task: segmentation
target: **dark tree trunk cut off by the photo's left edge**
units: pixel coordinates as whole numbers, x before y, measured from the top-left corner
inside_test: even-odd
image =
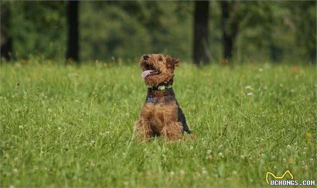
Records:
[[[1,3],[0,54],[2,59],[10,60],[12,53],[12,38],[9,32],[11,28],[11,15],[9,5],[5,3]]]

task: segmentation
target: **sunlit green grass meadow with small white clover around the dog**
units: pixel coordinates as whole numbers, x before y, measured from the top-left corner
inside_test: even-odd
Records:
[[[314,65],[182,64],[174,90],[197,140],[168,145],[131,141],[146,95],[137,64],[0,69],[2,187],[264,187],[267,171],[286,170],[316,180]]]

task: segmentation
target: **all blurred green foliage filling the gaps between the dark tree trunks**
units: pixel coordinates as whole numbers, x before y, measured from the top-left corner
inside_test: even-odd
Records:
[[[64,58],[65,2],[7,2],[12,11],[14,57]],[[209,55],[222,57],[220,2],[210,3]],[[314,61],[315,1],[255,1],[232,4],[227,28],[239,22],[233,58],[246,60]],[[190,61],[193,46],[193,3],[122,1],[80,3],[80,56],[83,60],[143,53],[172,54]],[[5,25],[2,25],[5,30]]]

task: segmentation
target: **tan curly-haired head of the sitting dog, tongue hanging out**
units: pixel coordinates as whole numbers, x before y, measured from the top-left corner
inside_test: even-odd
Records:
[[[142,69],[142,78],[148,86],[157,86],[168,83],[174,77],[174,69],[179,66],[178,58],[162,54],[145,54],[139,62]]]

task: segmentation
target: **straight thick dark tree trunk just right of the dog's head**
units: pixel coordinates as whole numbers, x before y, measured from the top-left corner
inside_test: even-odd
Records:
[[[194,62],[207,63],[208,58],[209,1],[195,1],[194,13]]]

